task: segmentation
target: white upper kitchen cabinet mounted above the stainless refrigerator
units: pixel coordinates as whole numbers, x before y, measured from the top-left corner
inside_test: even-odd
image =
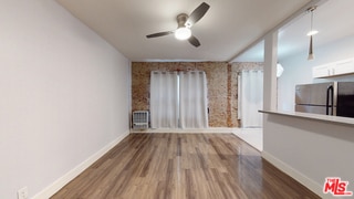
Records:
[[[324,78],[352,73],[354,73],[354,57],[315,66],[312,69],[312,76],[314,78]]]

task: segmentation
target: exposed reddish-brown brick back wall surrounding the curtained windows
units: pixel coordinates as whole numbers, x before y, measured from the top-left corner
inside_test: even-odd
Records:
[[[208,82],[209,126],[239,127],[237,119],[237,72],[262,63],[227,62],[133,62],[132,109],[149,109],[152,71],[205,71]]]

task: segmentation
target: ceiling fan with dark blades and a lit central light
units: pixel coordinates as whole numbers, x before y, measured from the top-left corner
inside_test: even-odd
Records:
[[[178,40],[188,40],[190,44],[194,46],[199,46],[199,40],[191,34],[190,28],[197,23],[208,11],[210,8],[209,4],[202,2],[199,7],[197,7],[189,15],[186,13],[180,13],[177,15],[177,23],[178,27],[174,31],[165,31],[165,32],[157,32],[154,34],[148,34],[146,38],[158,38],[168,34],[175,34]]]

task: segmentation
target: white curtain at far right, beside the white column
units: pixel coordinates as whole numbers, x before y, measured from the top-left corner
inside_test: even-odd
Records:
[[[239,118],[242,127],[262,127],[263,71],[242,71],[238,81]]]

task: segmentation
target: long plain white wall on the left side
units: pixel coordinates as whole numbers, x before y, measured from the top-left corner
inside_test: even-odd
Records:
[[[128,133],[129,61],[54,0],[0,1],[0,198]]]

